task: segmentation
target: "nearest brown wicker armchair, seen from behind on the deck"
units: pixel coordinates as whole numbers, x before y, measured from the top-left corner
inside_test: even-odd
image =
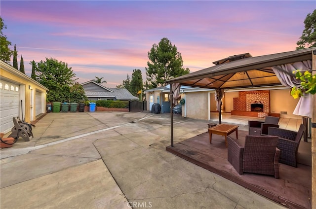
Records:
[[[239,174],[266,174],[279,178],[277,137],[247,135],[244,145],[241,145],[241,140],[229,136],[227,141],[227,159]]]

